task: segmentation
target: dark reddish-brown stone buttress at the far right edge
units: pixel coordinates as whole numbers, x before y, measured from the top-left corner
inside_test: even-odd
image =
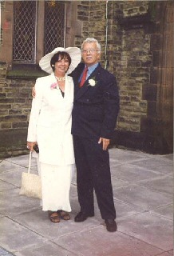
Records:
[[[142,97],[148,102],[141,130],[159,154],[173,150],[174,2],[156,2],[156,26],[150,35],[152,65]]]

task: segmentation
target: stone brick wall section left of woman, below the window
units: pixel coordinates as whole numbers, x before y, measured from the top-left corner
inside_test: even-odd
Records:
[[[6,79],[0,63],[0,158],[27,153],[26,133],[34,81]]]

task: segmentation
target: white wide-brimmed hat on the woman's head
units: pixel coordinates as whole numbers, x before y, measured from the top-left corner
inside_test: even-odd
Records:
[[[68,48],[62,48],[57,47],[55,48],[51,53],[46,54],[39,62],[39,66],[44,70],[45,72],[51,74],[53,73],[53,69],[50,65],[51,58],[54,54],[57,54],[58,51],[65,51],[69,54],[71,58],[71,65],[69,66],[69,69],[67,70],[66,74],[70,74],[78,65],[78,63],[81,62],[81,50],[77,47],[68,47]]]

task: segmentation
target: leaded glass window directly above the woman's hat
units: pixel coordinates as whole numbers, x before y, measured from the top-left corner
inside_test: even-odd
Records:
[[[45,1],[45,54],[64,47],[65,4]]]

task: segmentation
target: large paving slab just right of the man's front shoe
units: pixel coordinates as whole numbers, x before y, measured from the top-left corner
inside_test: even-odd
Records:
[[[136,214],[120,221],[120,230],[162,250],[173,248],[172,221],[150,213]]]

